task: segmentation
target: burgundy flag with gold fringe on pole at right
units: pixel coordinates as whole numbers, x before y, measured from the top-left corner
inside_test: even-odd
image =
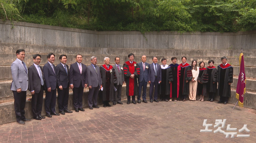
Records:
[[[243,107],[243,97],[246,92],[245,85],[246,85],[246,77],[244,72],[244,59],[243,59],[243,53],[239,56],[239,65],[240,65],[240,73],[238,77],[237,82],[237,93],[236,98],[238,99],[238,105],[239,107]]]

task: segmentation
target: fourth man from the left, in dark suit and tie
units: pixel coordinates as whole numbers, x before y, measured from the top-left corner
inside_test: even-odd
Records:
[[[62,54],[59,56],[59,65],[56,66],[56,78],[58,89],[58,105],[59,113],[65,115],[65,113],[73,113],[67,109],[69,102],[69,66],[67,63],[67,56]]]

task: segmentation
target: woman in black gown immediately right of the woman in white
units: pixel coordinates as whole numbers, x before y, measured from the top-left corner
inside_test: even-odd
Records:
[[[200,99],[198,101],[204,101],[204,96],[206,96],[207,82],[208,82],[208,72],[206,68],[204,68],[204,62],[199,63],[199,75],[198,75],[198,85],[197,92],[200,95]]]

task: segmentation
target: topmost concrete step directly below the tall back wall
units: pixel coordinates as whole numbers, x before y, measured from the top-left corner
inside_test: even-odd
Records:
[[[129,49],[129,48],[77,48],[77,47],[58,47],[58,46],[42,46],[31,44],[13,44],[0,43],[1,54],[15,54],[17,49],[25,49],[27,54],[69,54],[69,55],[121,55],[127,56],[134,53],[135,56],[204,56],[204,57],[239,57],[241,50],[184,50],[184,49]],[[256,50],[243,50],[244,57],[256,57]]]

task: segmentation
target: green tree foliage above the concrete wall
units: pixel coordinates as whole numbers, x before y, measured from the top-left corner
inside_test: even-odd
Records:
[[[98,31],[256,30],[255,0],[0,0],[0,19]]]

